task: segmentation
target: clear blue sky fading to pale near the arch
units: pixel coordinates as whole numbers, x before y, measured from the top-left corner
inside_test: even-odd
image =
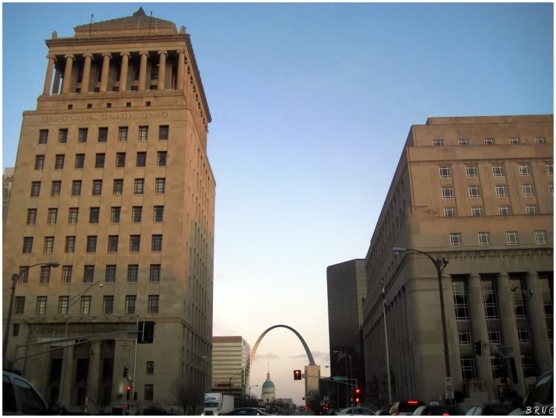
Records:
[[[44,40],[138,6],[3,4],[4,167],[42,92]],[[285,323],[323,371],[326,266],[365,257],[411,124],[553,113],[550,3],[142,6],[191,33],[212,113],[214,335],[253,346]],[[296,338],[274,330],[257,353],[251,385],[270,362],[278,396],[301,403]]]

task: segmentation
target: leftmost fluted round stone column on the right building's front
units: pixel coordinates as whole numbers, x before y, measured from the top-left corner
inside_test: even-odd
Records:
[[[477,273],[468,275],[467,297],[471,319],[471,344],[475,344],[476,341],[481,341],[482,344],[482,355],[475,355],[475,373],[477,373],[477,378],[484,381],[484,389],[489,394],[489,401],[494,401],[496,398],[491,371],[491,346],[484,316],[481,275]],[[475,349],[475,346],[472,347]]]

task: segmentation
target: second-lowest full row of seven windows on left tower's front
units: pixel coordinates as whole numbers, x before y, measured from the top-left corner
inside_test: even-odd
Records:
[[[62,283],[71,283],[73,276],[73,266],[62,266]],[[40,278],[39,282],[46,284],[50,282],[51,267],[41,266],[40,267]],[[139,278],[139,265],[138,264],[128,264],[127,266],[127,282],[136,283]],[[149,282],[159,283],[161,278],[161,265],[160,264],[150,264],[149,267]],[[93,283],[95,281],[95,266],[84,266],[83,269],[83,282]],[[19,266],[19,283],[26,284],[29,282],[29,266]],[[104,273],[105,283],[115,283],[116,282],[116,264],[106,265]]]

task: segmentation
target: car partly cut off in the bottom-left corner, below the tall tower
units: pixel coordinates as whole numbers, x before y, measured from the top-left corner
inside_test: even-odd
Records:
[[[57,403],[48,405],[37,389],[11,371],[2,372],[2,415],[59,415]]]

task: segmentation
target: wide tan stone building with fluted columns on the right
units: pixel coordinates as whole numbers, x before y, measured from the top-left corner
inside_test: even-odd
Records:
[[[443,299],[455,391],[525,397],[535,376],[553,368],[553,167],[553,115],[429,118],[411,127],[365,258],[372,399],[388,399],[382,278],[392,398],[445,396],[436,267],[394,247],[449,263]]]

